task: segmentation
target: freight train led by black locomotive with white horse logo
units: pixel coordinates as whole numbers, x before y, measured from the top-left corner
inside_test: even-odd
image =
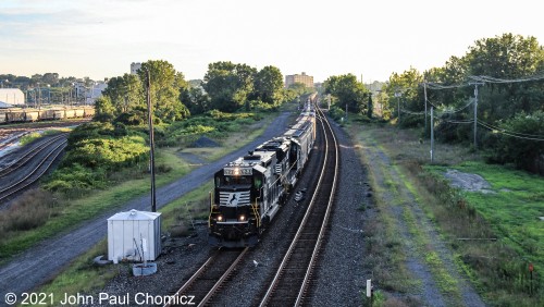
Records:
[[[254,246],[286,199],[316,140],[316,111],[308,101],[295,125],[214,174],[208,241]]]

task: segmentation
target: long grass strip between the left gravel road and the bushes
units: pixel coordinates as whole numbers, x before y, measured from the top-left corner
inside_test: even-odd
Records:
[[[189,163],[178,157],[180,151],[203,155],[201,157],[203,160],[215,160],[226,152],[250,143],[262,133],[267,126],[265,123],[270,123],[274,116],[275,114],[268,113],[265,119],[257,123],[245,121],[243,124],[236,124],[226,138],[217,139],[222,145],[218,148],[182,149],[172,146],[159,148],[156,164],[158,169],[163,168],[165,171],[159,171],[157,174],[157,185],[171,183],[190,171]],[[213,154],[207,155],[210,152]],[[27,197],[23,197],[20,200],[21,205],[12,207],[14,209],[0,212],[0,220],[3,221],[0,228],[0,261],[10,259],[44,238],[66,231],[85,220],[119,208],[129,199],[149,193],[149,179],[146,169],[147,162],[143,162],[131,169],[119,171],[111,177],[114,184],[110,184],[104,189],[86,192],[84,195],[61,199],[55,195],[51,197],[34,192]],[[44,199],[44,197],[48,199]],[[38,209],[34,206],[36,202],[41,202],[44,206]],[[46,222],[34,225],[32,221],[28,222],[33,217],[46,219]],[[22,220],[25,221],[21,223]],[[15,226],[11,228],[10,224]],[[17,230],[16,225],[18,224],[24,224],[25,229]]]

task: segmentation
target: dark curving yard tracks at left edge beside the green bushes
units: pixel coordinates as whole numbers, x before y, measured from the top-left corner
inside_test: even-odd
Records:
[[[0,201],[28,187],[41,177],[66,146],[67,133],[35,142],[21,154],[2,157],[0,165]],[[11,157],[14,156],[14,157]]]

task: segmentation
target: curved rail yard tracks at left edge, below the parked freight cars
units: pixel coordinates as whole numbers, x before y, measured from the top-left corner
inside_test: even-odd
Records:
[[[52,137],[50,140],[33,148],[11,165],[0,170],[0,180],[4,183],[4,186],[0,188],[0,201],[26,188],[44,175],[51,168],[57,157],[64,150],[66,146],[65,136],[66,134],[62,134]],[[13,173],[23,167],[25,167],[24,174],[17,176]]]

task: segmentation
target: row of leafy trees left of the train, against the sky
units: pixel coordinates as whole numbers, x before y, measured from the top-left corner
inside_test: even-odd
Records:
[[[159,122],[172,123],[211,110],[270,110],[301,94],[299,85],[285,89],[282,72],[272,65],[257,70],[230,61],[214,62],[208,65],[203,81],[187,82],[168,61],[148,61],[141,64],[137,75],[110,78],[103,97],[96,102],[96,119],[144,123],[148,71],[153,113]]]

